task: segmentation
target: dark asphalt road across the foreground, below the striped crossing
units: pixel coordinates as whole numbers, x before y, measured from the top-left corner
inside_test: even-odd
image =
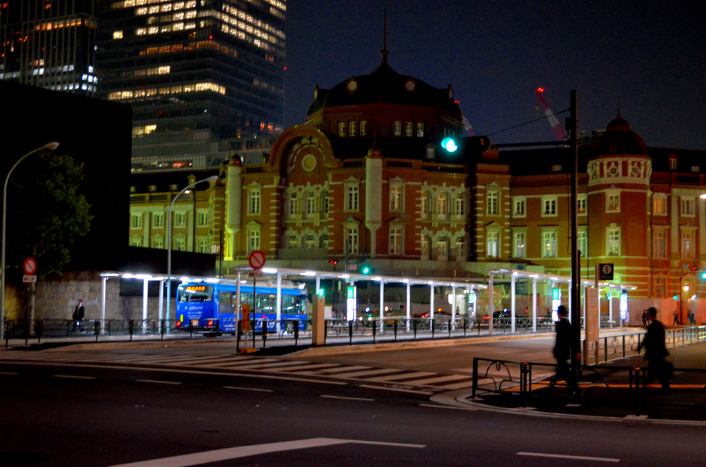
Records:
[[[137,362],[134,368],[1,362],[0,465],[695,466],[706,461],[705,427],[527,417],[266,370],[229,375],[138,367]]]

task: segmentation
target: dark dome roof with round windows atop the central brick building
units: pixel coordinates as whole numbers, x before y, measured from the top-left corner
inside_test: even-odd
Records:
[[[461,118],[451,85],[437,89],[412,75],[400,75],[383,59],[369,75],[353,76],[330,90],[316,88],[307,116],[321,109],[366,104],[395,104],[443,109]]]

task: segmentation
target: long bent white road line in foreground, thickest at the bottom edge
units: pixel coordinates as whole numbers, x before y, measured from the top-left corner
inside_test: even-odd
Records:
[[[359,439],[335,439],[335,438],[311,438],[299,439],[297,441],[285,441],[267,444],[253,444],[251,446],[229,447],[225,449],[215,449],[215,451],[196,452],[184,454],[184,456],[165,457],[163,459],[152,459],[151,461],[139,461],[124,463],[112,467],[189,467],[201,463],[214,463],[227,461],[228,459],[239,459],[247,456],[257,456],[258,454],[270,454],[273,452],[290,451],[292,449],[307,449],[322,446],[333,446],[334,444],[357,443],[376,444],[382,446],[414,447],[424,448],[426,444],[404,444],[388,443],[376,441],[363,441]]]

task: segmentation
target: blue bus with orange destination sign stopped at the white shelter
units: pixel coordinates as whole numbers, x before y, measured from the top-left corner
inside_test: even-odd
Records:
[[[280,319],[287,320],[289,327],[299,320],[299,330],[306,329],[309,322],[309,298],[304,288],[283,281],[280,287],[282,308]],[[263,320],[267,319],[267,332],[277,330],[277,287],[265,283],[256,286],[253,305],[253,286],[240,286],[240,303],[250,305],[250,317],[254,320],[255,332],[262,332]],[[177,288],[177,328],[189,328],[208,332],[236,332],[236,284],[187,282]],[[282,326],[280,329],[286,330]]]

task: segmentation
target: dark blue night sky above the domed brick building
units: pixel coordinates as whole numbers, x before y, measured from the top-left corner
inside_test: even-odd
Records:
[[[580,131],[605,129],[619,102],[648,146],[706,150],[702,1],[287,0],[285,128],[317,83],[378,67],[383,8],[393,70],[451,83],[495,143],[556,140],[546,120],[503,131],[544,116],[541,86],[562,124],[577,90]]]

